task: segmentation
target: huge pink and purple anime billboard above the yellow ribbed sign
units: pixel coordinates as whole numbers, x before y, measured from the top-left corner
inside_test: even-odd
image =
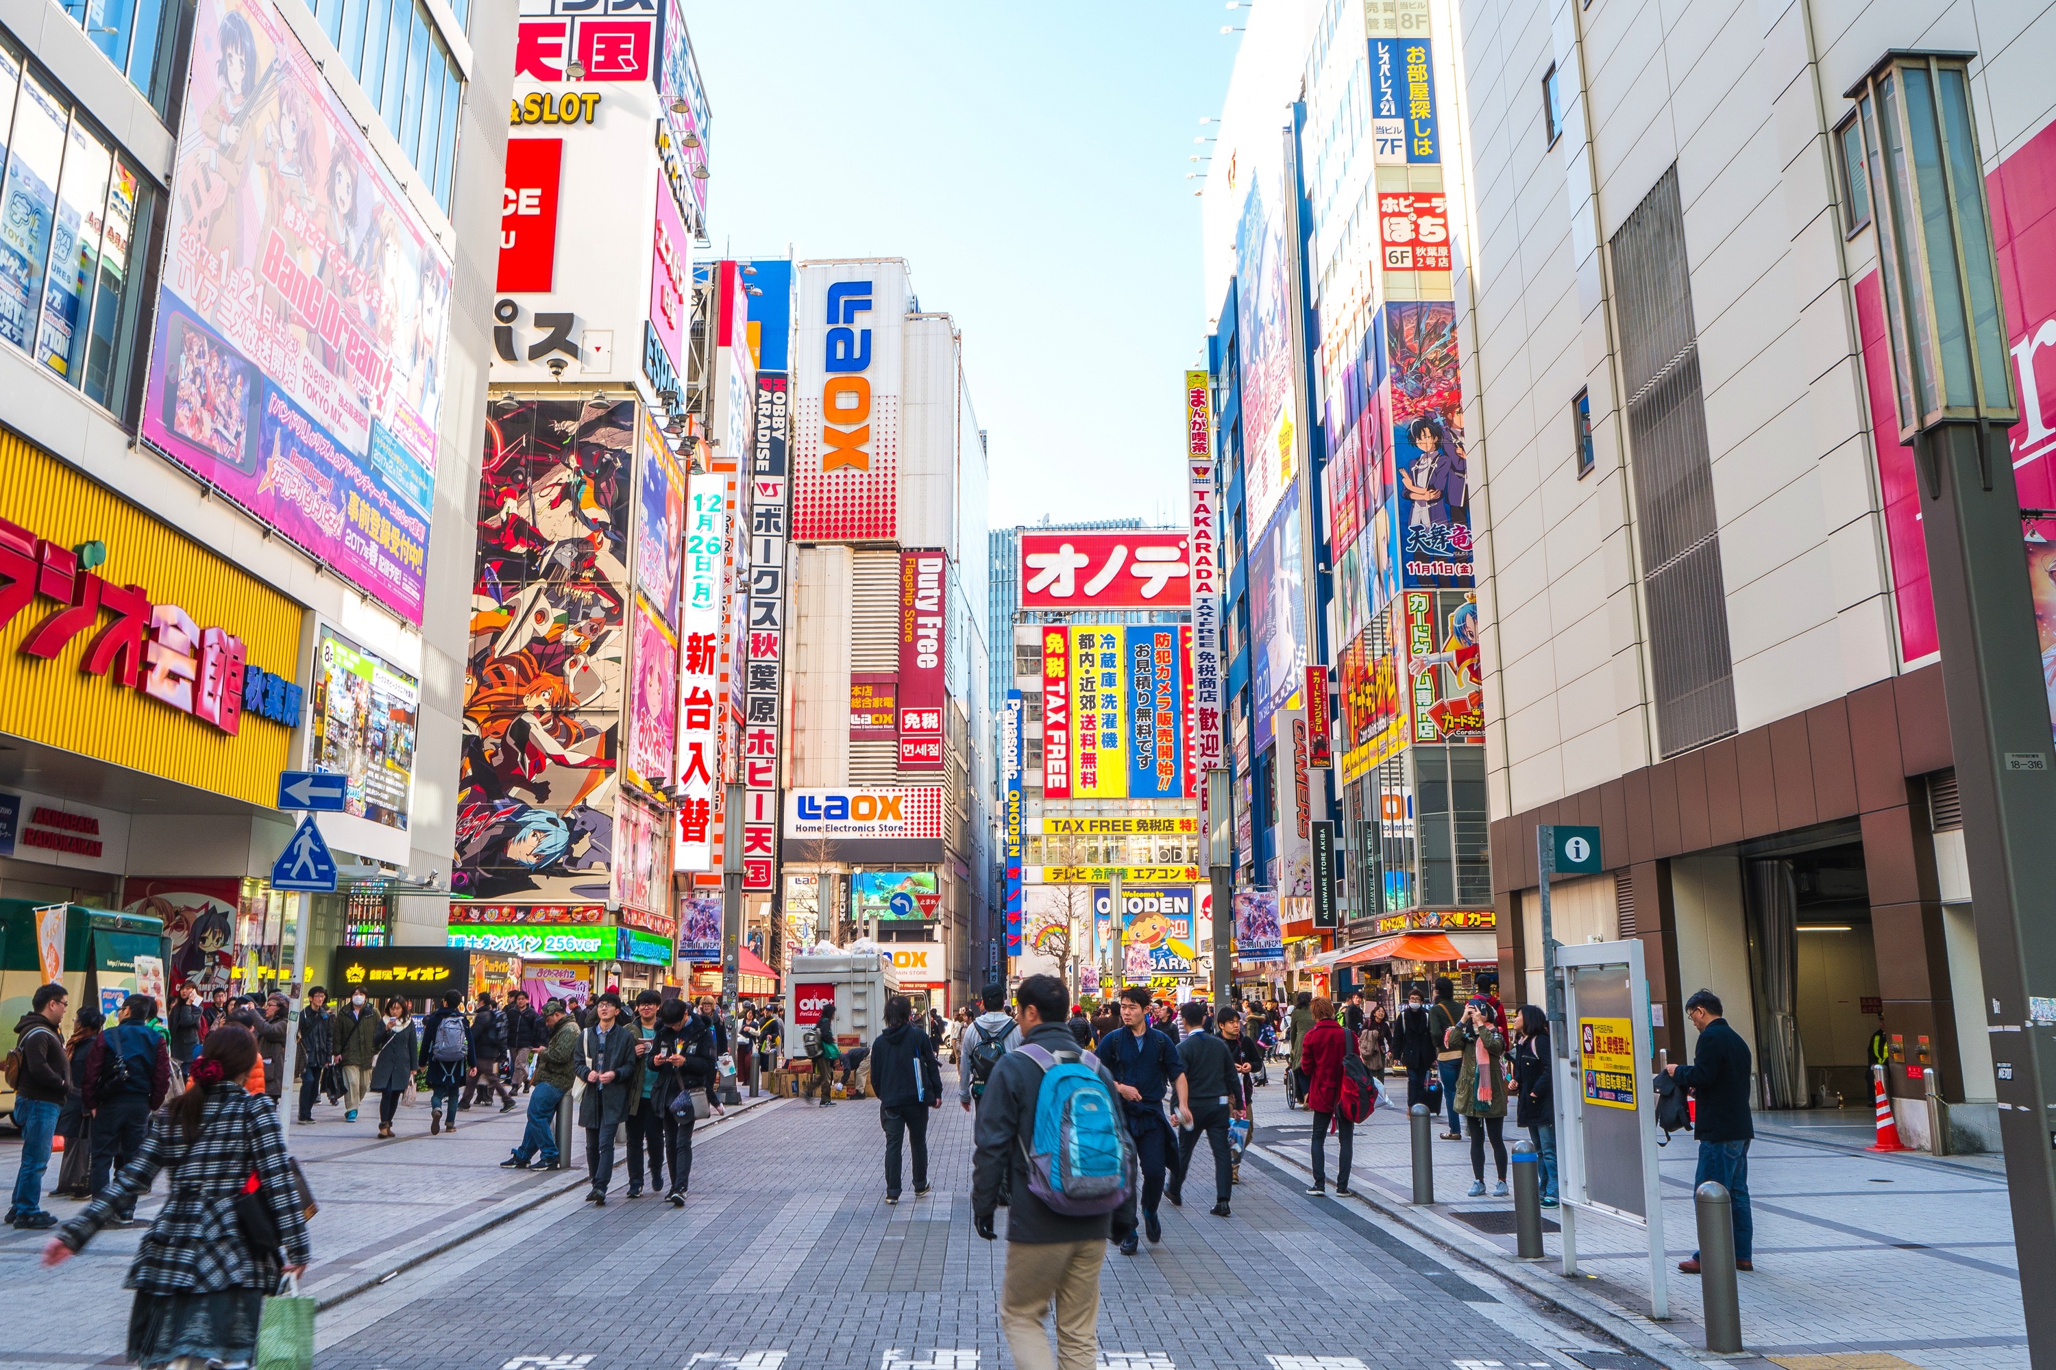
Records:
[[[142,433],[421,622],[450,261],[271,0],[199,0]]]

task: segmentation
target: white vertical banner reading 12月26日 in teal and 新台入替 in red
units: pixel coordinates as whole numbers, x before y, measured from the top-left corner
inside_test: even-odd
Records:
[[[678,832],[672,869],[713,869],[713,807],[722,764],[720,639],[722,559],[728,542],[728,477],[697,474],[685,497],[685,561],[678,589]]]

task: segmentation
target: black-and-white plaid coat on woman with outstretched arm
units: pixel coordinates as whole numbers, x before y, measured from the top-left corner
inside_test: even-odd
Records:
[[[278,1222],[286,1263],[304,1265],[313,1257],[306,1216],[288,1197],[278,1105],[226,1080],[208,1087],[197,1138],[187,1142],[183,1128],[158,1117],[121,1175],[86,1212],[58,1228],[58,1241],[80,1251],[119,1212],[136,1208],[158,1171],[167,1173],[169,1197],[150,1222],[123,1288],[138,1294],[278,1290],[278,1255],[253,1251],[236,1222],[236,1195],[253,1171]]]

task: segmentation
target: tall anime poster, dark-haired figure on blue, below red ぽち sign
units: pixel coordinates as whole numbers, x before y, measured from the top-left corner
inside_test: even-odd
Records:
[[[1470,589],[1470,468],[1456,304],[1386,306],[1386,382],[1402,583]]]

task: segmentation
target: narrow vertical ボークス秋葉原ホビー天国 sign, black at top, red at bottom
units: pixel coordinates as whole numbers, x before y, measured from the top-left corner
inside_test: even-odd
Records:
[[[785,376],[757,374],[750,452],[750,610],[742,682],[742,889],[777,889],[777,789],[785,698]]]

